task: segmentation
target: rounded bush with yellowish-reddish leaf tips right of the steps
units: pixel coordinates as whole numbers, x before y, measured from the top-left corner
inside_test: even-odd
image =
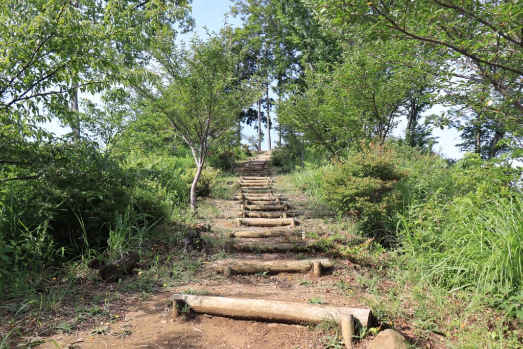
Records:
[[[339,213],[380,232],[400,206],[398,184],[405,176],[390,148],[370,144],[344,163],[335,164],[333,171],[324,172],[323,198]]]

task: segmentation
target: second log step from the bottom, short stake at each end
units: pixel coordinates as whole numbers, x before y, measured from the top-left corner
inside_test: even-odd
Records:
[[[224,267],[230,267],[231,271],[235,274],[256,274],[260,272],[266,272],[268,274],[308,273],[314,268],[314,264],[316,263],[319,263],[323,269],[332,266],[332,263],[328,260],[328,258],[321,258],[319,260],[310,261],[234,261],[220,263],[214,268],[217,272],[223,273]]]

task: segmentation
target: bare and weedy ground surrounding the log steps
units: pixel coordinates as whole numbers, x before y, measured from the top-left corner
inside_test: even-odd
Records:
[[[332,258],[334,267],[327,275],[260,273],[223,279],[206,274],[206,267],[215,262],[266,257],[223,252],[224,242],[236,229],[238,203],[230,200],[237,176],[222,176],[212,197],[200,201],[200,220],[212,228],[202,236],[204,252],[180,253],[158,243],[147,252],[143,271],[115,284],[96,282],[79,265],[70,267],[74,286],[67,278],[53,279],[50,271],[51,291],[41,295],[40,303],[22,297],[3,305],[2,332],[12,332],[13,347],[33,343],[43,348],[337,348],[342,343],[339,328],[330,322],[288,325],[204,315],[175,320],[170,316],[170,296],[177,292],[369,307],[381,321],[380,328],[365,331],[357,348],[366,348],[384,328],[400,331],[412,347],[461,346],[495,321],[495,314],[470,308],[458,294],[413,284],[393,252],[355,247],[350,258],[339,257],[331,246],[365,241],[353,233],[353,224],[294,187],[289,175],[272,171],[276,192],[288,196],[298,211],[297,230],[305,232],[307,241],[328,247],[328,254],[316,255]],[[277,257],[290,256],[270,256]]]

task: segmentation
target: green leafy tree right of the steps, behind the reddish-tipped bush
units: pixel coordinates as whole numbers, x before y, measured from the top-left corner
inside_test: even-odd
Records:
[[[332,72],[310,73],[308,89],[280,103],[280,123],[303,132],[305,140],[331,155],[361,139],[383,143],[412,99],[426,98],[419,91],[425,91],[427,79],[405,68],[416,59],[401,51],[413,49],[396,42],[354,46]]]

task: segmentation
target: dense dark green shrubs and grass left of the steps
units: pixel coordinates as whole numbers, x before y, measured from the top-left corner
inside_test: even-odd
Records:
[[[53,154],[49,170],[0,186],[1,299],[45,288],[49,268],[95,257],[113,261],[143,249],[165,230],[183,231],[179,224],[195,221],[187,211],[196,171],[190,151],[170,144],[155,144],[150,151],[132,145],[99,151],[87,142],[40,144],[41,153]],[[209,164],[226,170],[229,164],[220,156],[210,156]],[[238,149],[236,159],[241,156],[245,152]],[[198,196],[211,194],[220,173],[205,168]],[[175,235],[169,243],[179,245],[185,237]]]

